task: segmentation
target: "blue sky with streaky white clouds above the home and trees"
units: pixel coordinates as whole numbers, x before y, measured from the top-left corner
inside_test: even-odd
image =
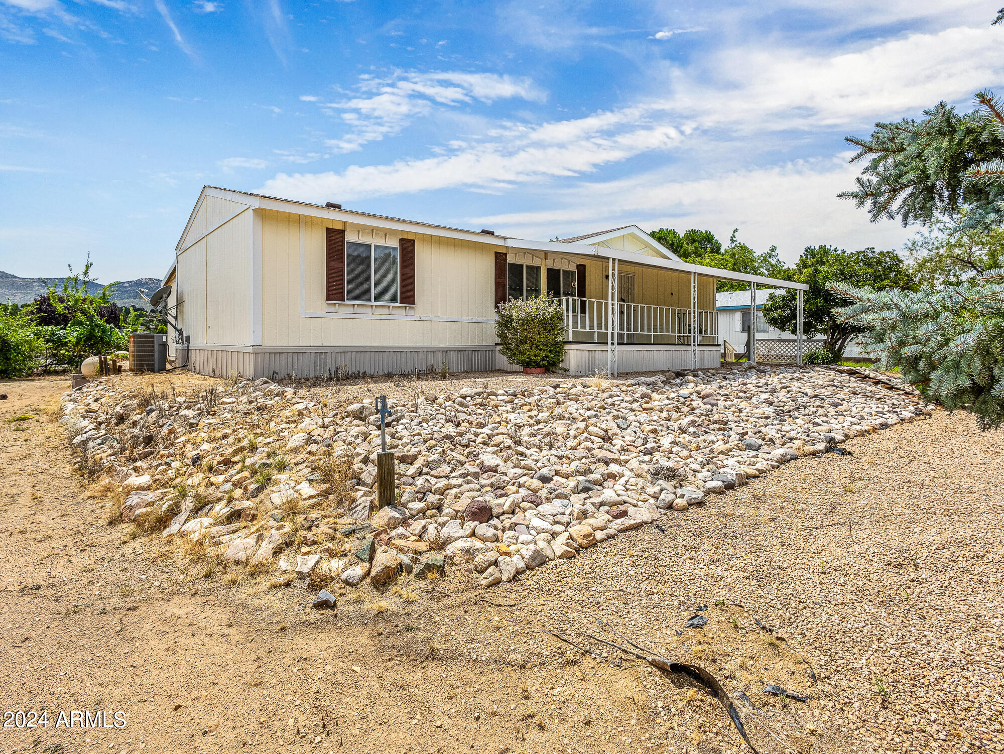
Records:
[[[548,239],[900,248],[843,137],[1004,81],[1000,0],[0,0],[0,269],[161,275],[204,184]]]

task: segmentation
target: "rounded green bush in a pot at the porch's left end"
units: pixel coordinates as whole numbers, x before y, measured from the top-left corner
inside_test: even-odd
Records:
[[[553,370],[564,360],[564,312],[548,296],[500,304],[495,335],[510,363]]]

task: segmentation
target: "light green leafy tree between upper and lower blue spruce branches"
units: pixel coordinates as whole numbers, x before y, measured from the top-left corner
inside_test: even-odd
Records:
[[[941,220],[908,241],[906,251],[918,286],[959,285],[1004,267],[1004,229],[956,228]]]

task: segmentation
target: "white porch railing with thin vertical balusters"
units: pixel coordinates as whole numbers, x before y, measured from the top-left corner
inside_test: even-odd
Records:
[[[574,296],[563,296],[554,301],[564,311],[566,340],[606,342],[608,301]],[[689,308],[624,302],[615,305],[618,342],[691,344],[693,312]],[[717,312],[698,309],[697,334],[698,344],[719,344]]]

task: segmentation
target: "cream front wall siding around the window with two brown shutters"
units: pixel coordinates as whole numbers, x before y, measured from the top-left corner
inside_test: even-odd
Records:
[[[301,316],[300,217],[272,210],[262,212],[263,345],[450,346],[495,342],[491,323],[418,318],[494,317],[494,247],[426,234],[414,236],[413,315],[395,319]],[[328,313],[324,301],[324,228],[342,228],[343,224],[305,217],[302,225],[303,308],[307,314]]]

